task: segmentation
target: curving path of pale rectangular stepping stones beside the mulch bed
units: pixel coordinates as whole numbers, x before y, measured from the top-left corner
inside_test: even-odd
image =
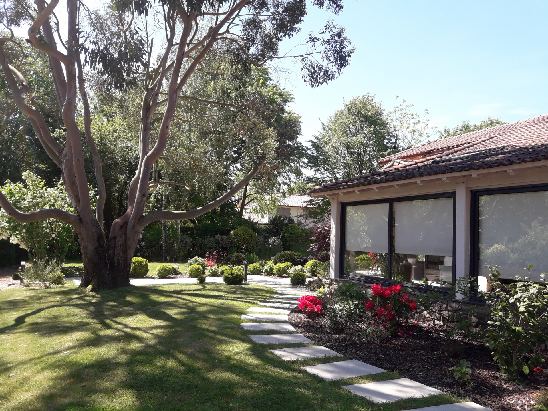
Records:
[[[271,279],[260,278],[254,283],[274,288],[278,294],[266,301],[259,302],[261,307],[250,307],[247,311],[252,312],[276,312],[289,314],[290,310],[296,307],[297,300],[302,295],[309,294],[302,287],[290,286],[282,281],[273,281]],[[273,307],[273,308],[269,308]],[[284,310],[287,309],[287,310]],[[273,311],[274,310],[274,311]],[[279,331],[282,334],[257,334],[249,335],[249,338],[256,344],[310,344],[313,341],[301,334],[288,334],[295,331],[295,328],[289,324],[287,315],[274,314],[242,314],[242,319],[252,321],[265,321],[264,323],[242,323],[244,330],[256,331]],[[322,346],[305,346],[296,348],[284,348],[279,350],[270,350],[275,355],[285,361],[299,361],[310,358],[343,357],[338,352],[329,350]],[[315,374],[326,381],[336,381],[340,379],[352,378],[362,375],[378,374],[385,372],[384,369],[374,367],[356,359],[347,361],[335,361],[319,364],[317,366],[302,367],[307,373]],[[365,397],[374,403],[385,403],[398,401],[404,398],[428,397],[431,395],[443,394],[443,391],[429,387],[424,384],[408,378],[398,378],[395,380],[378,381],[369,384],[345,385],[343,388],[352,393]],[[491,411],[473,402],[461,402],[447,404],[444,406],[425,407],[408,411]]]

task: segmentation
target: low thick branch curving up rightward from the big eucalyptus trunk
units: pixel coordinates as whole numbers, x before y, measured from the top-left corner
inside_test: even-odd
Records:
[[[210,210],[213,210],[214,208],[219,207],[222,203],[229,200],[231,197],[233,197],[238,191],[242,189],[245,185],[248,184],[248,182],[257,174],[262,167],[262,164],[265,162],[265,157],[262,157],[259,161],[259,164],[257,164],[247,175],[246,177],[238,182],[232,189],[227,191],[224,195],[216,199],[215,201],[212,201],[208,204],[206,204],[203,207],[196,208],[194,210],[190,211],[169,211],[169,210],[163,210],[163,211],[152,211],[149,214],[143,216],[141,220],[138,223],[138,230],[142,231],[147,225],[149,225],[151,222],[154,221],[162,221],[162,220],[189,220],[191,218],[196,218],[202,214],[207,213]]]

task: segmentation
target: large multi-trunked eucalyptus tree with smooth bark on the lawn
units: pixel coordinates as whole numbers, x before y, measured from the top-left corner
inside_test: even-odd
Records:
[[[90,10],[83,0],[67,0],[67,31],[63,37],[55,15],[58,3],[59,0],[36,0],[33,8],[28,0],[11,0],[5,4],[2,16],[7,30],[30,25],[27,42],[48,55],[64,139],[53,138],[42,113],[33,104],[24,75],[16,68],[16,61],[7,57],[8,48],[18,47],[13,31],[11,36],[0,39],[0,66],[16,106],[60,168],[75,212],[21,212],[2,193],[0,206],[20,222],[56,218],[74,226],[84,262],[81,287],[127,286],[134,249],[147,224],[190,219],[220,206],[242,189],[264,163],[265,153],[258,150],[250,158],[249,172],[224,195],[202,207],[146,211],[151,170],[168,144],[180,104],[211,104],[245,112],[242,107],[230,107],[223,101],[203,101],[186,95],[186,83],[196,70],[209,64],[207,56],[216,44],[224,45],[226,56],[243,67],[273,64],[285,57],[279,53],[280,42],[298,35],[307,5],[305,0],[113,0],[105,2],[106,9],[96,11]],[[341,0],[313,0],[312,4],[335,14],[343,9]],[[163,35],[160,45],[158,33]],[[333,22],[327,22],[317,35],[310,33],[303,44],[306,49],[288,57],[301,64],[301,76],[312,87],[338,76],[353,53],[344,27]],[[129,186],[127,210],[113,221],[109,238],[105,237],[103,226],[106,190],[90,126],[84,64],[98,70],[113,90],[141,88],[140,110],[135,114],[139,123],[139,163]],[[83,129],[78,127],[79,114],[83,116]],[[153,121],[156,116],[157,122]],[[89,197],[84,145],[93,155],[98,185],[95,210]]]

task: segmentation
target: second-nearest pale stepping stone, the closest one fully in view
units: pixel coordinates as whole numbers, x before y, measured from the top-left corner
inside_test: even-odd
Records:
[[[369,384],[346,385],[343,388],[346,388],[361,397],[366,397],[375,404],[393,402],[405,398],[429,397],[431,395],[444,394],[443,391],[417,383],[408,378],[378,381]]]

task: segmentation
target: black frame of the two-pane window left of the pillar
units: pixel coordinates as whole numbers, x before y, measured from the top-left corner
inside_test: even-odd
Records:
[[[401,201],[415,201],[415,200],[429,200],[435,198],[453,198],[453,282],[455,284],[456,271],[455,271],[455,252],[456,252],[456,191],[447,191],[443,193],[433,193],[425,195],[415,195],[415,196],[404,196],[404,197],[389,197],[389,198],[379,198],[372,200],[364,201],[351,201],[351,202],[341,202],[340,206],[340,233],[339,233],[339,278],[349,279],[351,281],[363,282],[363,283],[381,283],[381,284],[392,284],[392,256],[393,256],[393,235],[392,227],[394,225],[394,203]],[[363,206],[365,204],[384,204],[388,203],[388,215],[389,215],[389,224],[388,224],[388,276],[389,278],[375,277],[375,276],[366,276],[363,274],[347,273],[345,272],[345,253],[346,253],[346,208],[350,206]],[[409,283],[415,287],[420,287],[419,284]],[[441,287],[443,289],[444,287]]]

